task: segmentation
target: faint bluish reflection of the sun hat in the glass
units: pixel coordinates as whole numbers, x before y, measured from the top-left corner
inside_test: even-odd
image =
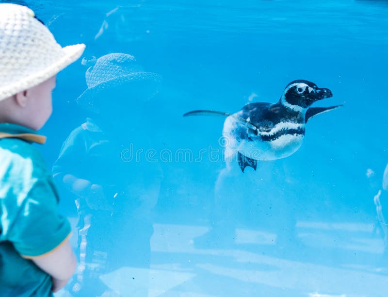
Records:
[[[86,70],[88,88],[77,99],[77,103],[89,112],[106,112],[104,104],[112,105],[114,94],[123,93],[125,101],[147,100],[159,90],[162,76],[146,72],[136,63],[135,57],[125,53],[110,53],[95,61]],[[116,104],[117,105],[117,104]],[[119,105],[117,105],[119,106]]]

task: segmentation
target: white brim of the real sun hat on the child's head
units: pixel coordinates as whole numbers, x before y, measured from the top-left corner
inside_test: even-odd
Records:
[[[0,100],[6,99],[18,92],[27,90],[33,86],[36,86],[42,82],[45,82],[50,77],[56,75],[59,71],[65,67],[77,61],[85,49],[84,44],[76,44],[63,48],[64,56],[58,61],[52,63],[50,66],[39,70],[31,75],[18,80],[17,82],[7,85],[5,88],[0,90]]]

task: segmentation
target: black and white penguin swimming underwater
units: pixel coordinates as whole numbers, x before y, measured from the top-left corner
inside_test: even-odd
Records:
[[[226,116],[223,129],[226,156],[237,152],[244,172],[246,166],[256,170],[258,161],[286,158],[297,151],[302,145],[307,121],[342,105],[309,106],[332,96],[329,89],[318,88],[313,82],[296,80],[286,86],[277,103],[250,103],[235,114],[194,110],[183,116]]]

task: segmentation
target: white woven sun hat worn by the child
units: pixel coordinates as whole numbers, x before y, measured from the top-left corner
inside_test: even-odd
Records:
[[[28,7],[0,4],[0,100],[48,80],[85,49],[62,48],[34,16]]]

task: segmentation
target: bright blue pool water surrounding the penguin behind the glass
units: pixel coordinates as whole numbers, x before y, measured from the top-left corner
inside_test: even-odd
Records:
[[[41,148],[61,166],[60,207],[86,268],[57,296],[387,296],[387,1],[27,4],[61,45],[85,43],[85,60],[130,54],[162,77],[95,92],[96,116],[76,102],[91,62],[58,75]],[[333,92],[314,106],[344,107],[311,119],[296,153],[256,171],[223,160],[225,118],[182,116],[275,103],[296,79]],[[87,117],[102,134],[85,144],[72,137]],[[141,156],[125,162],[124,150]],[[104,194],[76,194],[66,174]]]

